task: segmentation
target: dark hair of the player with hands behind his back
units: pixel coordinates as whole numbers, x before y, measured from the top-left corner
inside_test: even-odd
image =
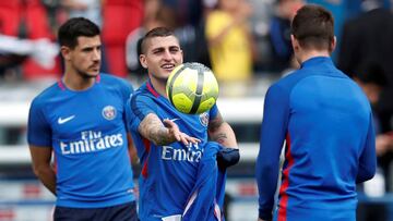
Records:
[[[74,48],[78,37],[94,37],[100,34],[99,27],[85,17],[73,17],[62,24],[58,32],[60,46]]]

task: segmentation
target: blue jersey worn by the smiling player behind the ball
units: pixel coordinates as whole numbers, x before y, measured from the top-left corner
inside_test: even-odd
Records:
[[[217,115],[217,107],[202,114],[181,113],[153,88],[150,81],[135,90],[129,102],[130,128],[142,164],[140,219],[160,220],[181,214],[196,181],[198,167],[207,143],[209,121]],[[148,113],[155,113],[160,120],[175,121],[181,132],[201,139],[201,143],[190,146],[179,142],[168,146],[154,145],[138,131]]]

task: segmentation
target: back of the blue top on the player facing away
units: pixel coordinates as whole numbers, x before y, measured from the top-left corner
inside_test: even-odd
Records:
[[[327,58],[310,59],[281,84],[289,88],[290,118],[281,188],[289,200],[279,206],[355,209],[359,158],[372,130],[367,98]]]

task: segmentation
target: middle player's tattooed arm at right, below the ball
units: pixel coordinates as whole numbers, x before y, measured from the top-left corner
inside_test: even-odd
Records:
[[[209,135],[212,140],[224,147],[238,148],[234,130],[227,122],[224,122],[221,113],[209,122]]]

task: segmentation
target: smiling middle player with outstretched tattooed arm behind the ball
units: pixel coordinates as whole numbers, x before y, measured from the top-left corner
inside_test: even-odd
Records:
[[[166,82],[183,59],[179,40],[171,30],[165,27],[150,30],[142,39],[141,49],[140,62],[147,69],[148,79],[132,95],[129,109],[132,138],[142,164],[139,218],[180,220],[194,185],[200,183],[199,167],[206,157],[205,147],[211,146],[207,135],[222,146],[233,148],[217,155],[224,152],[224,158],[234,159],[227,161],[231,161],[230,164],[239,159],[237,142],[216,106],[193,115],[181,113],[170,105]]]

